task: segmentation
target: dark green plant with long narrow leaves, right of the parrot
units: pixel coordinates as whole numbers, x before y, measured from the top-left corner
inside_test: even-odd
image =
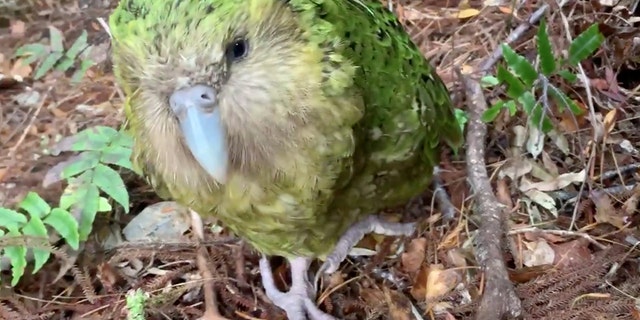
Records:
[[[531,124],[539,127],[543,133],[548,133],[553,129],[553,123],[545,112],[549,96],[557,103],[560,112],[568,108],[575,115],[582,114],[583,110],[576,102],[555,86],[550,78],[559,76],[569,83],[574,83],[578,77],[570,68],[576,67],[593,54],[603,41],[604,36],[600,33],[598,25],[593,24],[571,42],[566,59],[556,58],[543,19],[537,33],[539,69],[507,44],[502,44],[506,67],[499,65],[496,77],[484,77],[482,84],[485,87],[505,85],[507,99],[499,100],[489,107],[482,115],[482,120],[495,120],[503,109],[514,115],[520,107],[528,115]]]

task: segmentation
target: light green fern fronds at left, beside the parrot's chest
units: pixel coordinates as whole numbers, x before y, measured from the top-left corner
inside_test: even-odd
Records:
[[[45,185],[66,181],[58,207],[52,208],[37,193],[29,192],[19,203],[18,210],[0,208],[0,244],[2,253],[11,261],[15,286],[27,266],[27,249],[33,250],[36,273],[50,257],[46,246],[30,245],[24,241],[10,241],[24,237],[48,239],[53,228],[73,249],[85,241],[92,230],[98,212],[111,211],[109,198],[129,211],[129,194],[124,181],[109,165],[132,170],[131,137],[110,127],[97,126],[63,138],[54,155],[64,151],[80,152],[52,168],[45,177]],[[25,214],[26,213],[26,214]],[[29,219],[27,219],[27,215]]]

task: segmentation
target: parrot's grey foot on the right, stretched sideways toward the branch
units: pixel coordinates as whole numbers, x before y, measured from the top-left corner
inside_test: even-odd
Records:
[[[340,267],[340,263],[347,258],[351,249],[353,249],[365,235],[373,232],[387,236],[410,236],[415,229],[416,224],[413,222],[388,222],[382,220],[380,216],[377,215],[371,215],[356,222],[340,237],[333,251],[327,256],[322,266],[320,266],[316,274],[315,283],[318,283],[318,279],[322,273],[331,274],[336,272],[338,267]]]

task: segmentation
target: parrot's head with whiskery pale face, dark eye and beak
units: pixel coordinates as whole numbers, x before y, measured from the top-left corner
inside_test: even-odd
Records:
[[[297,17],[282,0],[121,1],[115,74],[159,163],[224,185],[295,152],[327,105],[324,52]]]

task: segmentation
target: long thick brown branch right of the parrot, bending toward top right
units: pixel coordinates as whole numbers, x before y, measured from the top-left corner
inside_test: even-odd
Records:
[[[506,39],[511,43],[518,39],[536,23],[549,8],[543,5],[529,18],[529,21],[519,25]],[[486,75],[502,57],[501,47],[480,64],[480,76]],[[506,315],[519,317],[522,314],[520,299],[515,293],[513,284],[509,280],[507,268],[502,258],[502,247],[505,240],[503,227],[505,208],[493,194],[485,163],[484,145],[487,126],[481,116],[487,110],[487,103],[482,88],[477,80],[464,77],[457,70],[461,78],[469,106],[469,123],[467,126],[467,167],[469,183],[476,198],[476,212],[481,216],[481,223],[476,238],[475,256],[487,279],[482,300],[478,307],[476,319],[503,319]]]

